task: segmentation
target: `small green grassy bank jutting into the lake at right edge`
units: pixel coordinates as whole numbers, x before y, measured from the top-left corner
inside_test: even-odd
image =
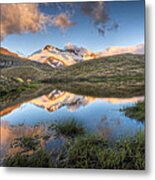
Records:
[[[145,121],[145,102],[138,102],[133,107],[128,107],[123,109],[125,112],[125,115],[134,119],[137,119],[139,121],[144,122]]]

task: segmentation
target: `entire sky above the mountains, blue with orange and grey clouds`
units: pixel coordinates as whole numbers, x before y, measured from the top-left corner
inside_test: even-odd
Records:
[[[1,46],[28,56],[51,44],[94,52],[144,43],[144,1],[4,4]]]

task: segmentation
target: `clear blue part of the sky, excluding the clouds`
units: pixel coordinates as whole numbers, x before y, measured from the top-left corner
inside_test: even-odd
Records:
[[[57,15],[66,11],[70,13],[70,8],[63,4],[61,8],[53,4],[39,4],[38,8],[40,12],[48,15]],[[46,30],[35,33],[8,34],[1,42],[1,46],[14,52],[22,52],[27,56],[46,44],[63,48],[70,42],[96,52],[111,46],[129,46],[144,42],[144,1],[142,0],[104,2],[104,11],[110,19],[104,24],[104,36],[98,33],[92,17],[83,13],[78,3],[72,5],[72,11],[70,20],[76,22],[76,25],[68,27],[64,32],[57,27],[47,26]],[[114,22],[118,24],[118,28],[108,31],[108,27]]]

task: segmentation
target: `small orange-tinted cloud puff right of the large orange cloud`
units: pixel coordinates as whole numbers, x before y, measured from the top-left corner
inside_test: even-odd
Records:
[[[75,24],[75,22],[70,21],[69,15],[66,13],[61,13],[53,19],[53,25],[61,28],[62,30],[70,26],[74,26]]]

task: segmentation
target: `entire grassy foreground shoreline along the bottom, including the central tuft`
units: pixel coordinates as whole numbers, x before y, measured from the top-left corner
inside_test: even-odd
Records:
[[[145,169],[144,132],[112,143],[98,135],[86,134],[84,127],[73,120],[51,127],[56,136],[63,136],[65,141],[58,151],[47,151],[41,146],[42,140],[39,135],[20,137],[12,144],[12,147],[20,147],[20,151],[8,155],[4,160],[4,166]],[[46,135],[46,138],[44,135],[43,138],[48,142],[50,135]]]

